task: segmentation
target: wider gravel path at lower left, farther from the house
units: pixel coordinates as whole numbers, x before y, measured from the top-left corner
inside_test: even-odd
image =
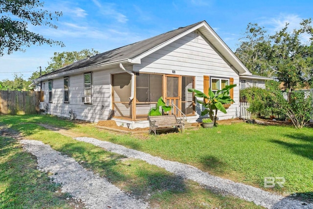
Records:
[[[124,194],[105,178],[86,170],[74,159],[61,155],[49,145],[37,140],[20,140],[23,147],[37,157],[38,167],[50,172],[55,183],[62,184],[62,192],[82,200],[90,209],[144,209],[148,204]]]

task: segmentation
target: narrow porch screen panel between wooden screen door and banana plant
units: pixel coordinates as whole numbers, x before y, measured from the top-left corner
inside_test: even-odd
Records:
[[[185,115],[193,114],[193,93],[188,92],[188,89],[194,88],[193,77],[182,76],[181,77],[181,111]]]

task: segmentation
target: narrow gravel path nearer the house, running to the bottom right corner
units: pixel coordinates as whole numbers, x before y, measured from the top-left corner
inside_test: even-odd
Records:
[[[92,143],[114,153],[146,161],[147,163],[165,168],[167,171],[185,179],[198,182],[211,190],[222,192],[223,194],[231,194],[247,201],[254,202],[256,205],[260,205],[268,209],[313,209],[313,204],[304,203],[291,198],[285,198],[283,196],[264,191],[260,188],[212,176],[191,165],[163,160],[159,157],[154,157],[150,154],[129,149],[122,145],[114,144],[108,141],[101,141],[88,137],[79,137],[75,139]]]

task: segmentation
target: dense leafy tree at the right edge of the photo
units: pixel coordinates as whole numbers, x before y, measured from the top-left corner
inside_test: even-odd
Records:
[[[311,19],[303,20],[300,29],[288,32],[288,23],[270,39],[273,42],[271,60],[277,79],[291,92],[309,85],[313,69],[313,28]],[[303,43],[301,38],[309,35],[311,43]],[[309,45],[308,45],[309,44]]]

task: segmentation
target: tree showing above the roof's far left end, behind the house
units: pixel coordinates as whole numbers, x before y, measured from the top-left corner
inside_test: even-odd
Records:
[[[48,62],[49,66],[42,70],[42,75],[52,72],[54,70],[58,70],[64,66],[70,65],[74,62],[77,62],[82,59],[86,59],[88,57],[94,56],[98,54],[99,51],[94,50],[93,48],[82,49],[81,51],[64,51],[64,52],[54,52],[54,56],[50,58],[50,62]],[[35,71],[29,78],[29,80],[33,80],[40,77],[40,71]]]

